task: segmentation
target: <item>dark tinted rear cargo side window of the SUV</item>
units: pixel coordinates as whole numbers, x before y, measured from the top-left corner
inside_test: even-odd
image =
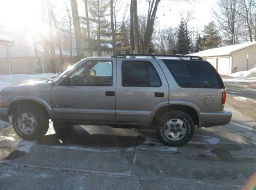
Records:
[[[195,60],[163,60],[183,88],[223,88],[221,79],[209,63]]]

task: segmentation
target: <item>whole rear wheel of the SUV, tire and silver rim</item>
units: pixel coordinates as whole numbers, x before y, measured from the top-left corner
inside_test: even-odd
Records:
[[[193,137],[195,124],[184,112],[171,111],[157,123],[157,138],[167,146],[182,146]]]

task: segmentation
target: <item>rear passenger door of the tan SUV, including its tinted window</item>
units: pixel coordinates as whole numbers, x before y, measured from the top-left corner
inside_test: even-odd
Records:
[[[154,59],[117,59],[116,121],[148,124],[161,103],[168,103],[166,78]]]

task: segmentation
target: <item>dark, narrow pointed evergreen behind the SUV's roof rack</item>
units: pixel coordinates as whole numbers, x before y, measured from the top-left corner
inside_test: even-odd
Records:
[[[176,49],[178,54],[186,55],[189,53],[191,48],[191,39],[188,36],[188,31],[186,29],[185,23],[180,22],[178,29],[178,40],[176,43]]]

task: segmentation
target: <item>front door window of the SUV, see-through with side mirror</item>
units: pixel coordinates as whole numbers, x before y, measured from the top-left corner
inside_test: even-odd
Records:
[[[113,63],[111,61],[88,61],[70,76],[70,86],[112,86]]]

